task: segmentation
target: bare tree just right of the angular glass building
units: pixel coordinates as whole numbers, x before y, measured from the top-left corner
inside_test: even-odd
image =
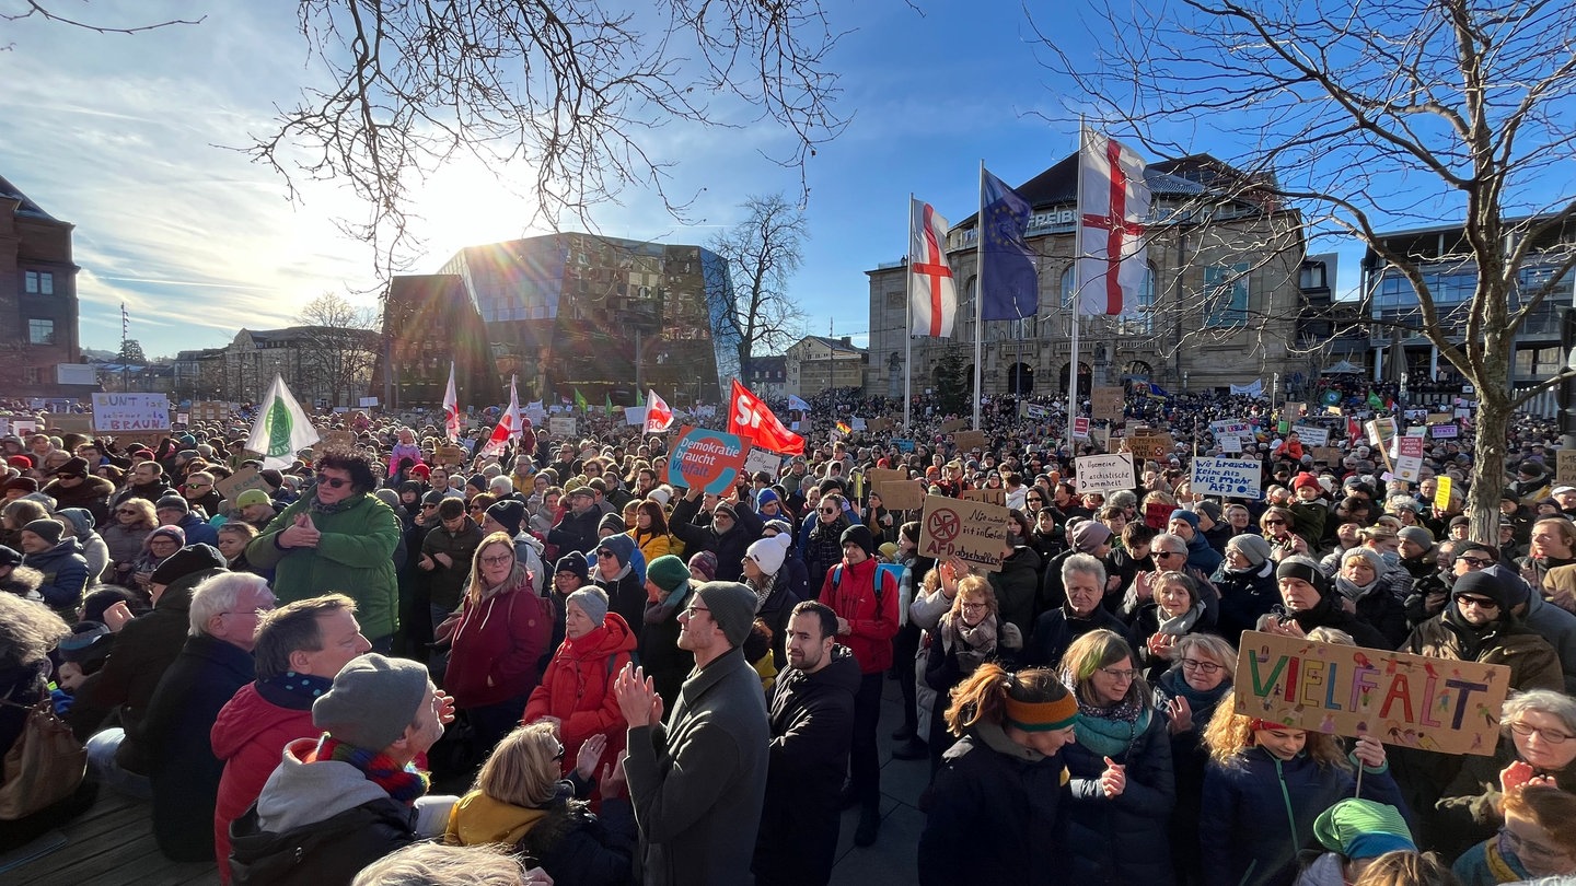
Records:
[[[738,337],[739,375],[749,377],[756,350],[785,348],[804,334],[805,314],[788,296],[788,281],[804,260],[810,229],[780,192],[749,197],[739,208],[744,221],[712,238],[708,249],[728,263],[733,301],[722,322]]]

